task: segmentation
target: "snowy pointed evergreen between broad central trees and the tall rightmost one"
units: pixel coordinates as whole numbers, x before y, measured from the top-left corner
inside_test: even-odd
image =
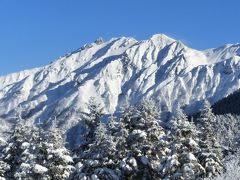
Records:
[[[197,179],[204,177],[205,169],[198,160],[197,130],[179,108],[172,120],[170,152],[162,156],[162,178]]]

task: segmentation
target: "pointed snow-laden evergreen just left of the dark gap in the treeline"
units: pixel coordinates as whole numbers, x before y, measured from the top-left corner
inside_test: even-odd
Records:
[[[74,171],[73,159],[56,127],[56,119],[48,131],[43,133],[42,142],[37,145],[39,149],[38,164],[45,166],[50,179],[69,179]]]

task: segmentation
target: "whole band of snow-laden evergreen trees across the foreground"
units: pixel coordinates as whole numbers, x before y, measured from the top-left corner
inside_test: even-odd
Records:
[[[240,177],[238,116],[214,115],[204,103],[197,118],[178,108],[161,121],[151,101],[125,106],[102,122],[94,98],[81,119],[82,142],[65,147],[57,119],[26,125],[19,117],[1,145],[0,180],[237,179]]]

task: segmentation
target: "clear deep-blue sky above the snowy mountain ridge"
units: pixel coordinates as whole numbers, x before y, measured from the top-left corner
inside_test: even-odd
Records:
[[[206,49],[240,41],[239,0],[0,0],[0,75],[98,37],[165,33]]]

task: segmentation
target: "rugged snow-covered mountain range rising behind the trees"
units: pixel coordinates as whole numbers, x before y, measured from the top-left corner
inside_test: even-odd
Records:
[[[0,77],[0,117],[60,120],[96,97],[113,113],[152,98],[161,109],[197,110],[240,88],[240,44],[198,51],[157,34],[148,40],[97,40],[51,64]]]

